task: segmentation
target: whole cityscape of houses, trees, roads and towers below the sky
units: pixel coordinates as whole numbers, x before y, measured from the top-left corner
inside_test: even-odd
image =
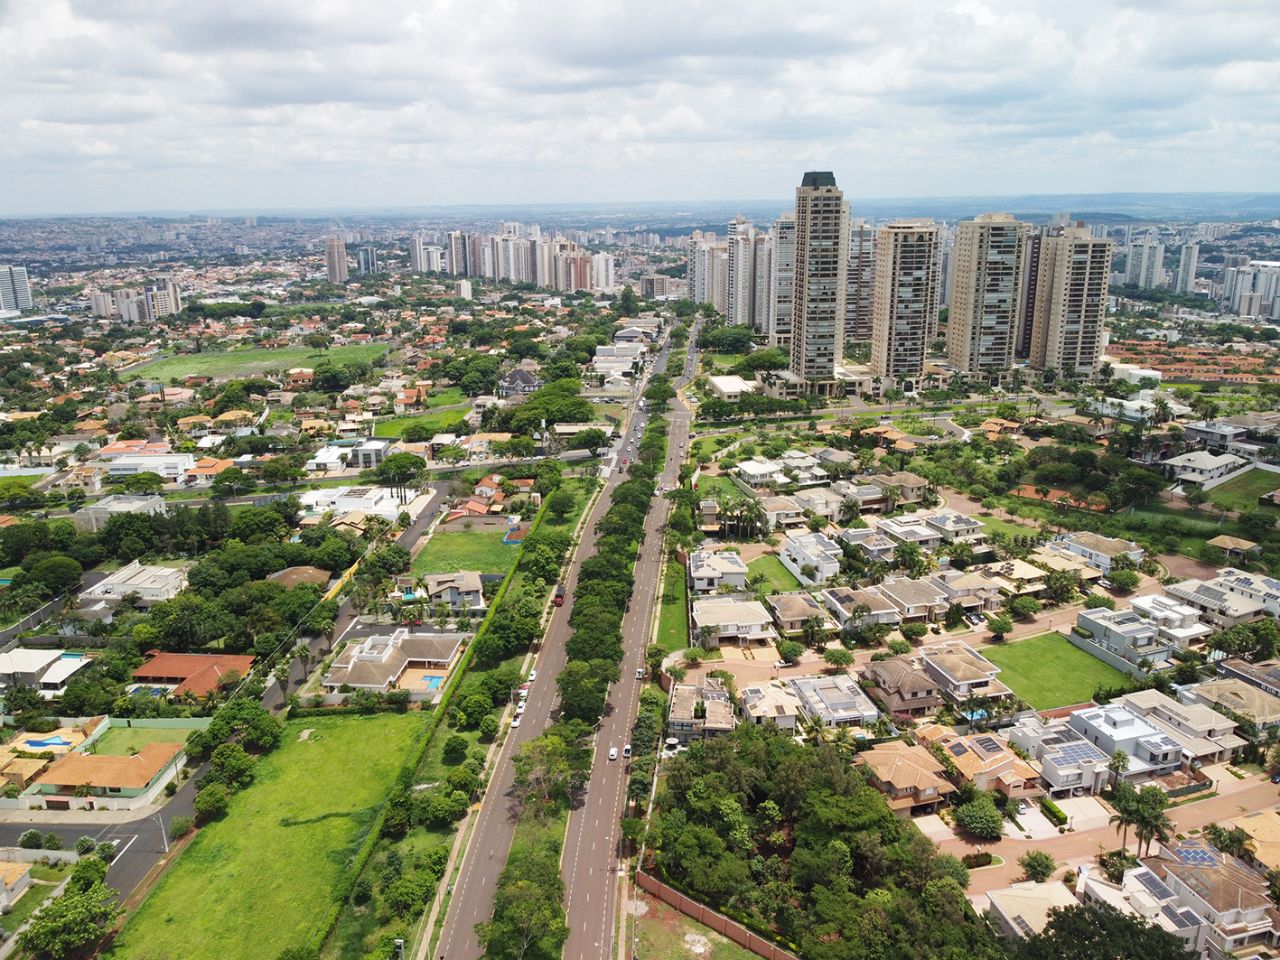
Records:
[[[1280,956],[1280,221],[797,179],[0,221],[0,957]]]

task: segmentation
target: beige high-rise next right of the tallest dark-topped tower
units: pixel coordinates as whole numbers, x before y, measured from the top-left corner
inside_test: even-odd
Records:
[[[932,220],[886,224],[876,236],[872,371],[915,389],[938,324],[942,239]],[[895,387],[896,383],[886,383]]]

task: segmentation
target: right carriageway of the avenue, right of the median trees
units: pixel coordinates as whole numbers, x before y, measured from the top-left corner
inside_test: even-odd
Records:
[[[678,383],[678,381],[677,381]],[[667,463],[660,484],[675,484],[685,460],[689,438],[689,410],[677,398],[668,416]],[[622,756],[631,741],[640,703],[644,667],[654,607],[660,595],[663,527],[671,504],[658,499],[645,517],[645,538],[636,559],[635,591],[631,612],[622,623],[622,678],[609,689],[608,705],[595,737],[595,762],[586,800],[570,813],[561,869],[564,874],[564,910],[568,940],[564,960],[602,960],[614,955],[613,920],[618,905],[618,877],[623,868],[618,856],[623,804],[626,803],[630,762]],[[609,759],[611,748],[618,759]]]

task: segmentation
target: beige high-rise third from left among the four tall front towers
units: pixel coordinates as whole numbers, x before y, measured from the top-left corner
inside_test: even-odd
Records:
[[[982,214],[956,227],[952,247],[947,358],[969,374],[1012,366],[1018,338],[1025,225]]]

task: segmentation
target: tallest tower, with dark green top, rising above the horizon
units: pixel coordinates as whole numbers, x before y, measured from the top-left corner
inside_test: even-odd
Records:
[[[849,209],[836,178],[810,170],[796,188],[796,271],[791,372],[814,393],[836,390],[845,355],[849,293]]]

